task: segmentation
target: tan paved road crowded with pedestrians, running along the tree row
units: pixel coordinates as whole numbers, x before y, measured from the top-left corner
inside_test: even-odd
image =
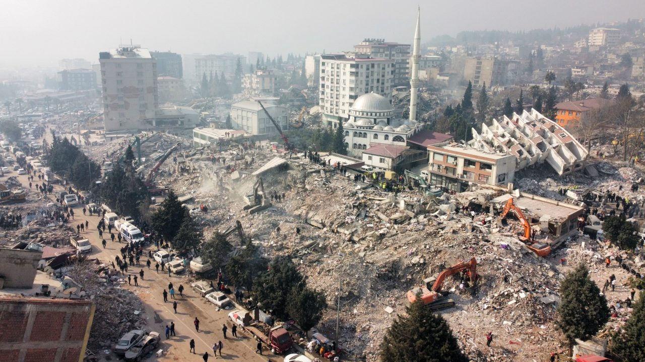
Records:
[[[17,173],[12,171],[6,176],[17,176]],[[27,175],[20,175],[19,180],[23,183],[24,187],[29,187]],[[34,183],[37,181],[37,176],[35,176]],[[63,187],[55,185],[54,193],[57,191],[63,191]],[[37,191],[32,189],[30,192],[34,193]],[[54,195],[50,195],[49,197],[52,199],[52,202],[55,202]],[[83,215],[82,209],[83,207],[80,205],[74,207],[74,220],[70,220],[70,225],[75,228],[76,225],[81,224],[81,222],[84,223],[87,220],[89,223],[89,229],[82,232],[81,236],[89,238],[92,243],[94,251],[91,256],[106,263],[114,262],[115,256],[120,256],[121,254],[119,249],[121,249],[125,244],[117,241],[111,242],[110,234],[104,233],[103,236],[107,241],[107,246],[103,249],[101,239],[99,238],[99,234],[96,229],[100,218],[98,216],[89,216],[89,214]],[[115,238],[115,240],[117,239]],[[154,253],[154,245],[152,248]],[[144,251],[144,255],[148,254],[148,249]],[[140,260],[140,267],[130,267],[128,269],[129,274],[132,274],[132,285],[127,285],[126,283],[124,288],[130,289],[141,298],[148,318],[147,328],[149,330],[155,330],[161,334],[161,347],[167,351],[166,356],[161,358],[151,357],[150,359],[147,359],[148,361],[203,361],[201,355],[203,355],[204,352],[208,352],[210,356],[209,360],[212,361],[212,345],[213,343],[217,343],[219,340],[223,341],[224,347],[222,357],[217,356],[218,359],[223,358],[237,361],[267,361],[268,357],[273,361],[279,361],[282,359],[279,356],[267,356],[268,351],[266,350],[264,351],[264,356],[256,354],[256,342],[251,334],[245,334],[241,330],[238,330],[238,338],[232,339],[230,336],[232,324],[228,321],[229,310],[221,310],[217,312],[214,305],[206,303],[205,298],[201,298],[199,294],[196,294],[192,289],[190,289],[188,283],[184,281],[183,276],[173,275],[169,277],[167,272],[159,272],[159,274],[157,274],[154,269],[154,260],[150,260],[152,263],[151,269],[147,269],[145,266],[146,260],[148,260],[148,258],[147,256],[144,256]],[[143,280],[139,280],[139,286],[135,287],[134,275],[141,269],[144,269],[144,278]],[[167,289],[168,283],[171,281],[175,286],[175,291],[177,290],[177,287],[179,287],[179,284],[184,285],[184,297],[179,297],[178,292],[175,296],[178,304],[177,314],[175,314],[172,309],[172,300],[168,303],[164,303],[163,301],[162,292],[164,289]],[[170,299],[170,295],[168,295],[168,298]],[[199,318],[199,321],[201,322],[199,332],[195,331],[193,323],[195,317]],[[175,332],[177,336],[165,339],[165,325],[170,325],[171,321],[175,322]],[[226,323],[228,327],[228,339],[223,339],[222,327],[224,323]],[[197,354],[189,353],[190,347],[188,346],[188,342],[190,339],[195,339],[195,350]]]

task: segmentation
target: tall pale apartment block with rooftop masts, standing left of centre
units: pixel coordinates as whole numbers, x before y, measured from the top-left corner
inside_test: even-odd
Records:
[[[159,108],[157,63],[140,45],[99,53],[106,131],[144,129]]]

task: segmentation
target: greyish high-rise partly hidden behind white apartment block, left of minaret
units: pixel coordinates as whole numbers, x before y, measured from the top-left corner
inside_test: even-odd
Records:
[[[373,58],[394,61],[393,87],[406,86],[410,82],[410,44],[387,43],[385,39],[364,39],[354,46],[354,50]]]

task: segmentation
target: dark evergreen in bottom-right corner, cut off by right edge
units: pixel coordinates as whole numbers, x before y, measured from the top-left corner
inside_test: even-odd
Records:
[[[611,339],[610,352],[616,362],[645,361],[645,292],[640,292],[630,319]]]

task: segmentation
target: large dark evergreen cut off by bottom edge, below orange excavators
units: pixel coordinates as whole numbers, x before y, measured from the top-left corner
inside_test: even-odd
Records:
[[[433,314],[421,298],[397,316],[381,343],[382,362],[468,362],[442,316]]]

